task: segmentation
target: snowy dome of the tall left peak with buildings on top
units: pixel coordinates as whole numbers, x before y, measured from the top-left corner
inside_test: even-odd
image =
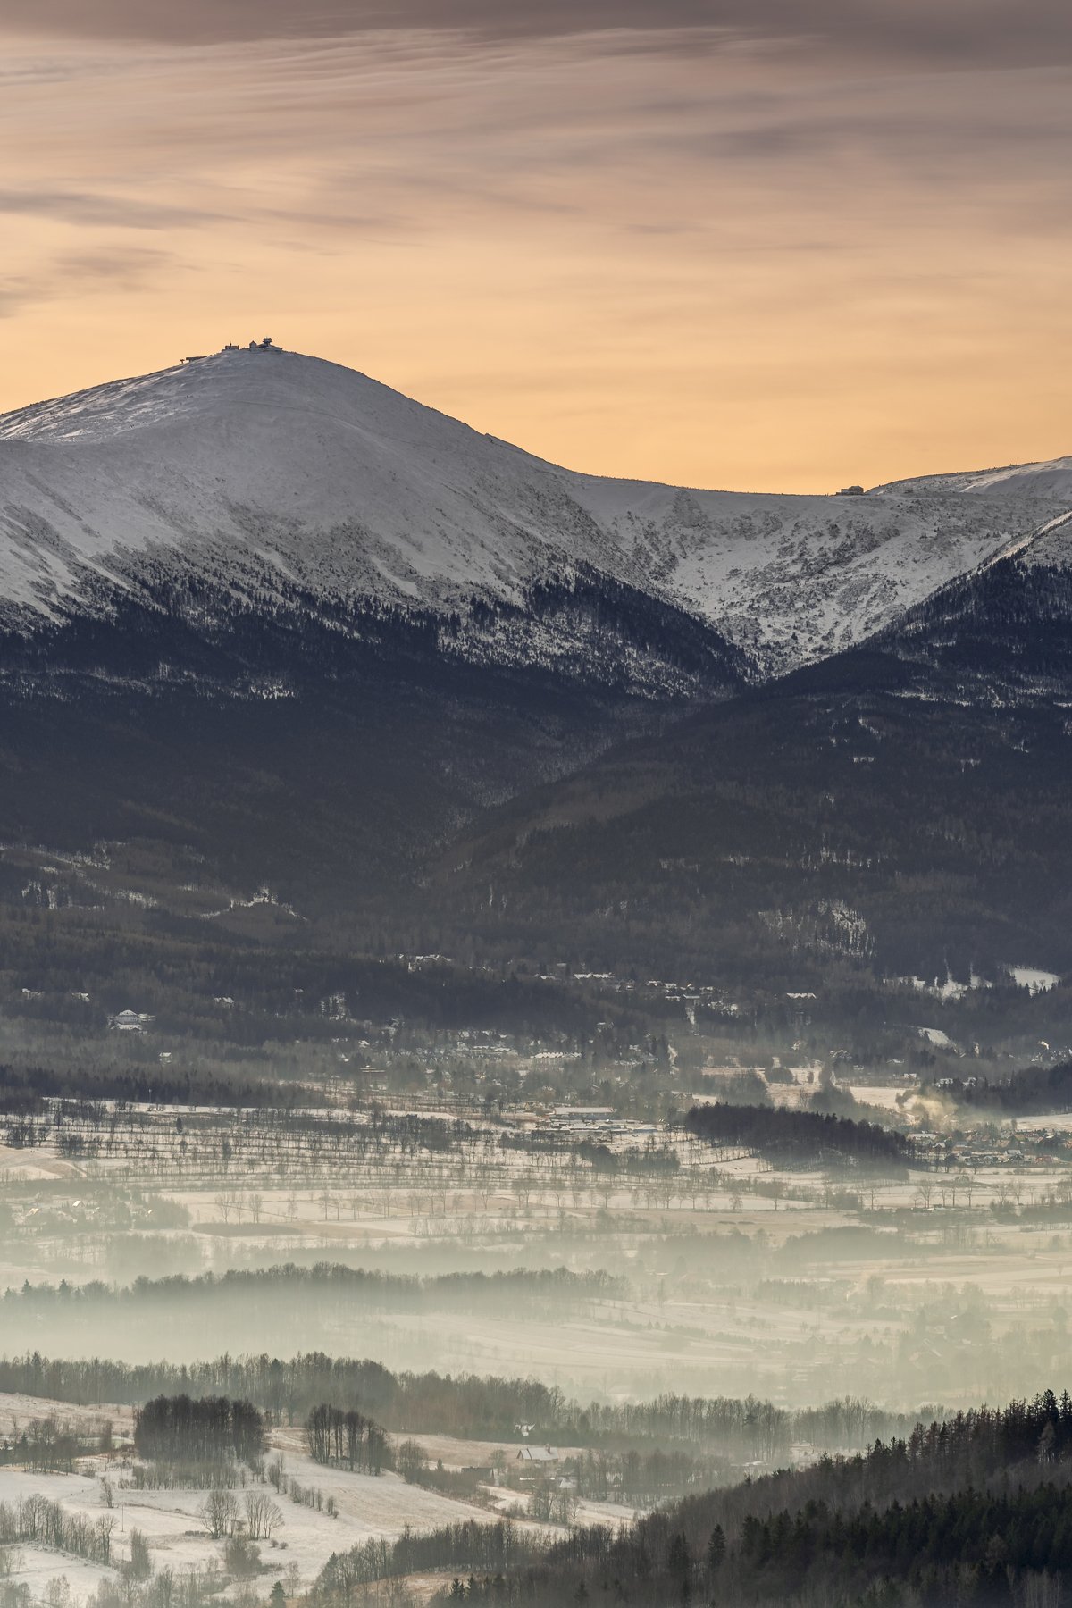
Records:
[[[225,352],[0,420],[0,585],[47,608],[169,550],[423,603],[609,568],[553,473],[363,375]],[[577,527],[580,526],[580,527]]]

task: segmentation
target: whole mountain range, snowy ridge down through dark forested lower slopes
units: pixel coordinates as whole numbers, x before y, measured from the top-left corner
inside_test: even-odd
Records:
[[[1070,535],[1072,460],[611,481],[273,347],[8,413],[0,904],[1064,965]]]

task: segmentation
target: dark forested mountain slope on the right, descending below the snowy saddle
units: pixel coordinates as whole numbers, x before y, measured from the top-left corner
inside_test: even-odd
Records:
[[[505,807],[440,897],[487,947],[656,974],[1069,968],[1070,627],[1072,572],[1004,560]]]

